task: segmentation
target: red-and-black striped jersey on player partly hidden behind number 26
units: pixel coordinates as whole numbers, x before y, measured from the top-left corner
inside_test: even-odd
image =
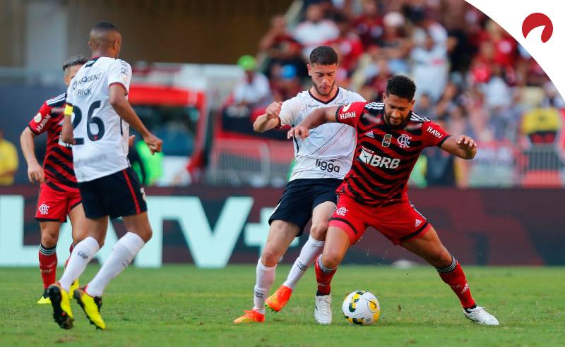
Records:
[[[35,135],[47,131],[47,150],[43,161],[47,185],[54,190],[78,192],[73,170],[73,151],[69,145],[60,140],[65,99],[66,93],[44,102],[28,127]]]

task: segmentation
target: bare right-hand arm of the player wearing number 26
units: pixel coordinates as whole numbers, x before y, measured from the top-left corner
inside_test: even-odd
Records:
[[[151,154],[161,152],[162,140],[157,136],[150,133],[143,125],[143,122],[133,111],[133,107],[126,99],[126,90],[119,84],[110,85],[109,87],[109,103],[114,107],[118,116],[126,121],[131,127],[136,129],[141,134],[145,143],[147,143]]]

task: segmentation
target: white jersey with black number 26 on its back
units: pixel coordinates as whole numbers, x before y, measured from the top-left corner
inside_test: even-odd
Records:
[[[109,104],[109,87],[129,92],[131,66],[108,57],[90,59],[71,81],[66,102],[73,106],[73,164],[78,182],[93,181],[129,166],[129,124]]]

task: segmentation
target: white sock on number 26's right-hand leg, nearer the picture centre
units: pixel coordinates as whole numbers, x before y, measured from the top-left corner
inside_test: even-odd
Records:
[[[108,260],[88,284],[86,288],[88,295],[102,296],[109,281],[124,271],[133,257],[143,248],[143,245],[145,245],[145,242],[136,233],[126,233],[124,237],[120,238],[110,252]]]

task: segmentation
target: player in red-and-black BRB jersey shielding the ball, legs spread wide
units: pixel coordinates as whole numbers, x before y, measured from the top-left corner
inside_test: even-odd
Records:
[[[387,81],[383,103],[353,102],[314,110],[289,136],[305,138],[309,129],[338,122],[357,130],[351,170],[337,190],[339,200],[330,219],[326,244],[316,261],[317,295],[330,293],[338,264],[350,245],[372,226],[395,245],[401,245],[436,267],[441,279],[458,296],[463,313],[474,322],[498,325],[498,320],[477,306],[463,269],[439,240],[426,217],[408,200],[408,178],[420,152],[438,146],[463,159],[472,159],[477,145],[472,138],[453,138],[428,118],[412,111],[416,86],[396,75]]]

